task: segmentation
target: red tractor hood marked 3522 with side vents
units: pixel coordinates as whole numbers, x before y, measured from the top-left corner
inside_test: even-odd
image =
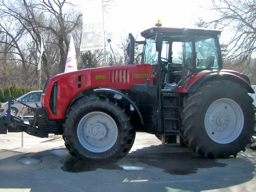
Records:
[[[98,87],[131,89],[134,84],[153,84],[149,64],[82,69],[47,79],[41,104],[52,119],[63,119],[68,104],[79,93]],[[58,106],[58,107],[57,107]]]

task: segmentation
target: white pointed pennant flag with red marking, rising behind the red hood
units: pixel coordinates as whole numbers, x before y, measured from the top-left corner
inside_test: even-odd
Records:
[[[75,45],[74,45],[74,40],[73,36],[71,34],[70,38],[70,43],[68,47],[68,56],[66,60],[66,66],[65,66],[65,71],[70,72],[70,71],[77,71],[77,64],[76,64],[76,50],[75,50]]]

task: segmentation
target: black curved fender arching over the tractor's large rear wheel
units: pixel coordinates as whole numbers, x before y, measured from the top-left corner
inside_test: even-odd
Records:
[[[245,75],[243,75],[245,76]],[[249,79],[249,78],[248,78]],[[248,93],[254,93],[254,90],[252,89],[251,85],[246,82],[243,78],[236,76],[232,73],[227,73],[227,72],[221,72],[221,73],[210,73],[207,74],[200,79],[198,79],[195,83],[193,83],[187,92],[191,93],[196,90],[197,87],[199,87],[202,83],[205,81],[212,81],[212,80],[227,80],[227,81],[232,81],[234,83],[237,83],[241,85],[244,89],[248,91]]]

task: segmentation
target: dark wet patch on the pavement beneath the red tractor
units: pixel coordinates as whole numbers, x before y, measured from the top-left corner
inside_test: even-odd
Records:
[[[226,160],[228,163],[229,160],[232,161],[234,159],[233,156],[230,156]],[[186,147],[161,145],[132,151],[115,164],[92,164],[73,156],[63,159],[61,163],[63,164],[61,169],[67,172],[89,172],[97,169],[127,171],[127,169],[124,169],[123,164],[130,166],[131,170],[136,170],[136,168],[141,167],[140,164],[145,164],[147,165],[146,167],[156,167],[171,175],[189,175],[197,173],[199,169],[225,168],[228,166],[226,163],[219,163],[216,159],[206,159],[198,156]]]

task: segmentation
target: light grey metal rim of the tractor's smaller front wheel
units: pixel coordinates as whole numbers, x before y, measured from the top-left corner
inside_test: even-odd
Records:
[[[95,111],[86,114],[79,121],[77,136],[84,148],[94,153],[102,153],[116,143],[118,129],[111,116]]]

